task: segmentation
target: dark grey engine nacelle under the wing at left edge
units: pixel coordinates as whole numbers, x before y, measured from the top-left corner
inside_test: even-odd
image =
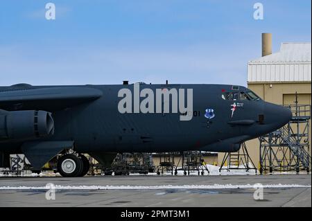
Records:
[[[49,112],[25,110],[0,115],[0,141],[39,139],[53,133],[54,121]]]

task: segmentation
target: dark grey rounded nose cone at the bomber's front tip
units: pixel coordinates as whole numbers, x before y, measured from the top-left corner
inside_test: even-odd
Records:
[[[268,119],[267,123],[275,127],[275,129],[286,125],[293,117],[290,109],[271,103],[266,103],[265,113]]]

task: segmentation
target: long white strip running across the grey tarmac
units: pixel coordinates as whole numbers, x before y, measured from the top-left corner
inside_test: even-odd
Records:
[[[261,185],[261,184],[260,184]],[[300,184],[214,184],[214,185],[165,185],[165,186],[62,186],[47,184],[46,186],[0,186],[0,191],[5,190],[164,190],[164,189],[237,189],[237,188],[311,188],[309,185]]]

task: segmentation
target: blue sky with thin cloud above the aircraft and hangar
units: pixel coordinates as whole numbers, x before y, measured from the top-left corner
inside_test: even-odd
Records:
[[[45,5],[55,3],[56,19]],[[264,19],[254,20],[254,3]],[[311,42],[311,1],[3,0],[0,85],[130,82],[246,85],[261,33]]]

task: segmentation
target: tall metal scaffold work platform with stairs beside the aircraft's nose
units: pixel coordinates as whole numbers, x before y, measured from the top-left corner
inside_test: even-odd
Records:
[[[259,138],[260,173],[311,171],[309,121],[311,105],[285,106],[293,118],[279,130]]]

